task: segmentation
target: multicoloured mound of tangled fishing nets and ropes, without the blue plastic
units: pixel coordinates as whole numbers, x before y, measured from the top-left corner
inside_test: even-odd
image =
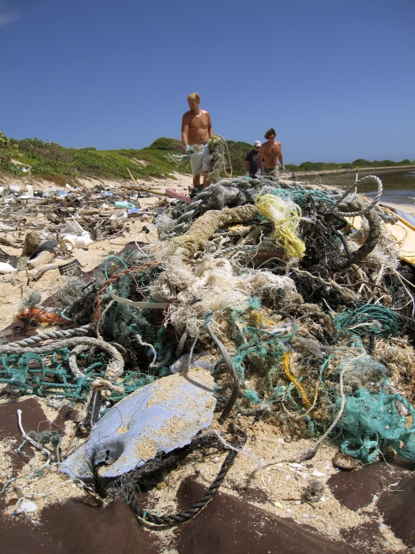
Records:
[[[223,179],[158,215],[159,241],[59,292],[61,325],[89,326],[100,343],[3,346],[0,382],[73,404],[99,388],[115,404],[181,354],[209,352],[219,410],[229,357],[235,411],[316,447],[331,436],[364,462],[390,449],[414,462],[414,271],[385,220],[354,191]],[[109,371],[118,356],[123,367]]]

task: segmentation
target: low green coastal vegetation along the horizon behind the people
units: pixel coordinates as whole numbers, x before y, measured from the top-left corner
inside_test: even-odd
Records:
[[[246,152],[252,145],[241,141],[227,141],[233,175],[243,175]],[[23,175],[24,168],[30,167],[31,175],[59,181],[77,177],[100,177],[107,179],[129,179],[128,170],[136,179],[149,177],[174,177],[174,172],[190,172],[188,163],[178,164],[183,154],[183,145],[176,139],[164,136],[156,139],[147,148],[97,150],[87,148],[64,148],[41,139],[12,139],[0,131],[0,172]],[[228,162],[229,163],[229,162]],[[299,166],[286,165],[286,170],[294,172],[353,170],[371,167],[401,167],[414,165],[409,159],[400,162],[391,160],[368,161],[357,159],[351,163],[327,163],[304,161]]]

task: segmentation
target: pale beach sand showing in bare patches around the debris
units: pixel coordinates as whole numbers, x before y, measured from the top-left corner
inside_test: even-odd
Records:
[[[314,173],[300,174],[301,178],[306,179],[309,176],[313,176]],[[177,179],[163,179],[153,180],[150,183],[142,184],[146,188],[164,191],[165,188],[175,188],[178,193],[187,195],[190,187],[192,186],[192,177],[190,175],[176,175]],[[284,176],[283,176],[284,179]],[[0,184],[2,186],[8,186],[9,179],[0,177]],[[13,179],[13,182],[21,186],[21,190],[26,190],[26,183],[24,180]],[[40,179],[31,179],[35,190],[50,190],[50,187],[55,184],[49,181]],[[77,186],[82,191],[93,190],[95,187],[102,188],[105,193],[111,193],[113,190],[120,190],[120,186],[125,190],[125,200],[133,202],[136,206],[139,206],[141,212],[149,212],[149,215],[138,215],[138,217],[128,217],[120,224],[117,236],[115,238],[108,238],[105,240],[99,240],[93,242],[86,249],[77,248],[71,252],[70,256],[62,256],[59,254],[55,256],[54,263],[61,265],[68,262],[68,260],[76,259],[82,266],[82,271],[91,271],[105,258],[112,254],[118,253],[126,244],[139,240],[141,242],[154,242],[158,240],[156,228],[151,224],[152,213],[156,208],[164,206],[166,203],[172,202],[171,199],[164,196],[150,195],[148,197],[137,197],[137,194],[133,191],[129,191],[129,182],[124,181],[109,181],[102,179],[82,179],[77,181]],[[292,181],[287,179],[287,184],[291,184]],[[100,216],[111,217],[115,208],[111,197],[102,195],[102,197],[95,203],[98,207]],[[42,211],[33,213],[30,207],[30,201],[21,201],[20,213],[13,213],[13,226],[18,229],[17,234],[14,233],[15,242],[19,242],[19,246],[13,247],[10,244],[1,243],[0,247],[10,256],[21,256],[21,244],[24,242],[25,235],[29,228],[37,229],[38,231],[44,231],[48,229],[50,222],[42,215]],[[395,204],[391,206],[403,211],[411,210],[414,212],[414,206],[412,202],[408,204]],[[3,223],[9,224],[10,222],[4,221]],[[1,231],[1,235],[4,238],[10,238],[10,233],[7,231]],[[31,276],[35,273],[36,269],[28,270],[22,269],[17,271],[12,276],[4,275],[0,276],[0,282],[2,287],[3,301],[0,304],[0,324],[2,328],[12,324],[15,320],[15,314],[18,310],[19,303],[22,298],[27,296],[29,292],[37,291],[42,294],[42,301],[52,296],[57,291],[58,287],[62,287],[66,282],[66,278],[59,273],[58,269],[50,269],[42,278],[37,281],[31,280]],[[4,400],[2,402],[5,402]],[[36,400],[44,411],[50,414],[50,409],[43,400]],[[50,415],[53,420],[53,415]],[[246,431],[250,429],[250,420],[246,419],[241,421],[242,427],[245,426]],[[322,447],[317,456],[310,464],[289,464],[287,460],[295,458],[299,449],[306,449],[309,446],[308,440],[302,440],[298,442],[293,440],[293,437],[287,436],[282,433],[276,427],[272,427],[263,423],[259,423],[256,427],[255,437],[251,436],[248,440],[247,456],[238,456],[236,463],[230,470],[229,481],[223,486],[223,492],[230,495],[230,497],[239,498],[239,490],[249,488],[250,490],[260,490],[263,494],[264,500],[252,501],[252,506],[261,508],[266,503],[266,509],[273,513],[277,517],[284,517],[295,521],[296,524],[306,524],[313,530],[329,537],[333,540],[338,540],[342,537],[342,533],[348,529],[356,528],[358,526],[366,526],[369,521],[375,521],[376,526],[381,529],[382,544],[379,544],[379,548],[385,548],[388,545],[388,552],[400,553],[403,552],[403,543],[391,533],[389,527],[385,526],[382,520],[382,516],[379,512],[374,515],[367,515],[367,510],[352,510],[343,506],[335,495],[330,492],[329,488],[325,489],[323,501],[313,506],[311,503],[302,503],[299,501],[301,494],[304,490],[304,485],[317,475],[322,483],[326,483],[329,479],[335,476],[338,470],[333,467],[333,456],[335,455],[336,448],[333,445],[327,443]],[[9,452],[9,448],[4,446],[4,452]],[[172,472],[166,481],[165,488],[156,488],[151,492],[149,501],[158,506],[158,509],[163,511],[176,510],[176,490],[178,485],[183,482],[184,479],[190,478],[196,475],[200,483],[206,485],[210,483],[214,478],[214,475],[219,470],[219,467],[223,461],[224,456],[210,457],[207,460],[202,460],[197,456],[195,458],[190,457],[188,463],[183,465],[179,470]],[[3,459],[3,463],[6,463]],[[262,469],[261,469],[262,468]],[[27,487],[30,487],[29,482],[24,482]],[[71,490],[71,483],[68,485],[62,485],[62,479],[56,478],[56,481],[50,481],[48,483],[49,488],[60,486],[61,496],[50,497],[50,502],[53,500],[62,501],[62,499],[70,499],[79,496],[80,490]],[[167,491],[167,494],[166,494]],[[48,504],[45,501],[45,505]],[[373,506],[372,506],[373,508]],[[8,515],[12,509],[8,508]],[[335,521],[335,525],[333,525]],[[168,537],[165,537],[165,541],[168,543]],[[385,551],[385,550],[383,550]],[[172,553],[173,551],[163,551]]]

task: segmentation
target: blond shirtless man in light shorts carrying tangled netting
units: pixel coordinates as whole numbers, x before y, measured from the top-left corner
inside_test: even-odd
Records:
[[[193,174],[193,186],[201,184],[203,173],[203,188],[210,185],[209,180],[209,148],[208,141],[213,135],[210,114],[201,109],[201,97],[197,92],[187,96],[190,110],[186,111],[182,120],[182,142],[186,152],[192,152],[190,167]]]

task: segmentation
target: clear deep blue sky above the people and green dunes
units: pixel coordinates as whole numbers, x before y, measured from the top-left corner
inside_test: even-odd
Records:
[[[0,129],[71,148],[214,132],[285,163],[415,159],[414,0],[0,0]]]

